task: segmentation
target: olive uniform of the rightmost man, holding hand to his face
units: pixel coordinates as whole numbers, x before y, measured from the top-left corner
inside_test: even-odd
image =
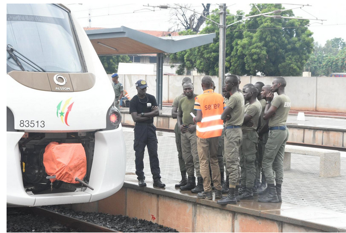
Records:
[[[274,98],[271,105],[276,107],[275,116],[269,118],[269,136],[263,155],[262,167],[267,183],[282,184],[284,148],[289,139],[286,120],[291,109],[291,100],[286,95]],[[275,171],[275,177],[273,174]]]

